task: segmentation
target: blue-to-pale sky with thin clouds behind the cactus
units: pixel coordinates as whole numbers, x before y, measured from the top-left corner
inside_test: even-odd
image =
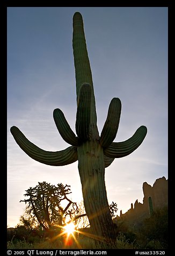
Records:
[[[14,141],[17,126],[35,145],[60,151],[53,110],[60,108],[75,132],[76,80],[72,17],[81,12],[91,63],[99,133],[113,97],[121,100],[118,133],[124,141],[141,125],[148,132],[127,157],[105,169],[108,203],[125,213],[143,203],[143,182],[151,186],[167,171],[167,16],[166,7],[8,7],[7,20],[7,225],[24,214],[25,190],[38,182],[68,184],[81,202],[78,162],[55,167],[39,163]]]

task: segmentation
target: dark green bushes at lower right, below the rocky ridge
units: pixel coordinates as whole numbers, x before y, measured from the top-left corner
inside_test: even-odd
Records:
[[[119,219],[118,229],[134,248],[166,249],[168,247],[168,209],[164,207],[152,212],[137,225]]]

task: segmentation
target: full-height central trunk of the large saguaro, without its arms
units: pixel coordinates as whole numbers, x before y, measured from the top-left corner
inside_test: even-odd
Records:
[[[89,140],[77,147],[84,207],[96,239],[108,241],[115,238],[115,232],[106,195],[104,153],[99,144],[92,73],[80,13],[74,14],[73,26],[77,106],[82,84],[89,83],[91,87]]]

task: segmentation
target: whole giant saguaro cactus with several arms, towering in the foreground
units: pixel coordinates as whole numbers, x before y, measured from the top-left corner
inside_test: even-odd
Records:
[[[84,206],[94,237],[99,240],[111,240],[115,238],[115,231],[106,195],[105,168],[111,165],[115,158],[125,157],[136,150],[146,136],[147,128],[141,126],[126,141],[113,142],[121,113],[120,99],[113,98],[99,136],[92,74],[83,19],[79,12],[73,17],[73,50],[77,93],[77,136],[60,109],[55,109],[53,113],[57,129],[71,146],[57,152],[44,151],[31,143],[16,126],[11,127],[11,133],[21,149],[41,163],[63,166],[78,160]]]

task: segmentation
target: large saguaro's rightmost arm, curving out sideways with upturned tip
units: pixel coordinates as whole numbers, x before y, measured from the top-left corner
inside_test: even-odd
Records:
[[[131,138],[119,143],[112,143],[104,150],[104,154],[106,155],[106,157],[110,158],[126,157],[126,155],[129,155],[130,153],[135,151],[138,146],[141,145],[146,134],[147,127],[140,126]]]

